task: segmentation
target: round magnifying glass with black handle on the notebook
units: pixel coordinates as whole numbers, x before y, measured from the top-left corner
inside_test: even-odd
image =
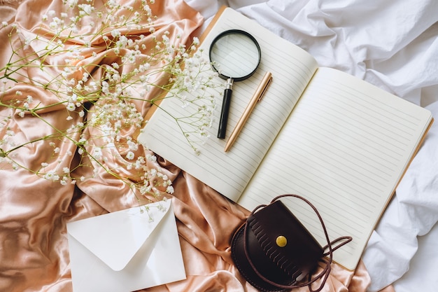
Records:
[[[224,139],[233,82],[245,80],[254,74],[260,64],[260,46],[248,32],[230,29],[213,39],[209,55],[213,69],[218,72],[220,78],[227,81],[218,129],[218,138]]]

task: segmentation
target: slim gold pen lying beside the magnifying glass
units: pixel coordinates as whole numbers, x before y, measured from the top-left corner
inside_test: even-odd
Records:
[[[234,128],[233,132],[229,136],[229,139],[227,141],[227,144],[225,145],[225,152],[231,148],[231,146],[234,144],[234,141],[236,141],[237,135],[241,132],[243,125],[245,125],[246,120],[248,120],[250,113],[253,111],[255,104],[257,102],[260,102],[262,99],[264,92],[266,92],[269,84],[271,84],[272,81],[272,74],[271,72],[266,72],[264,74],[262,82],[260,82],[260,85],[257,87],[257,90],[255,90],[253,97],[251,97],[250,102],[248,106],[246,106],[245,111],[243,111],[243,114],[241,118],[239,119],[239,122],[237,122],[236,127]]]

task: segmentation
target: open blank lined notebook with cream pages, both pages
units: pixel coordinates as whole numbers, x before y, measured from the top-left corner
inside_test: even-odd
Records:
[[[276,195],[306,197],[331,238],[353,237],[334,253],[337,263],[353,270],[432,123],[431,113],[341,71],[318,68],[304,50],[231,8],[213,21],[201,46],[205,54],[227,29],[252,34],[262,60],[253,76],[234,84],[226,139],[216,139],[214,124],[197,155],[174,119],[157,110],[139,140],[248,210]],[[272,83],[225,153],[227,138],[266,71]],[[174,99],[164,99],[161,107],[177,116],[190,111]],[[324,245],[313,210],[299,200],[283,202]]]

